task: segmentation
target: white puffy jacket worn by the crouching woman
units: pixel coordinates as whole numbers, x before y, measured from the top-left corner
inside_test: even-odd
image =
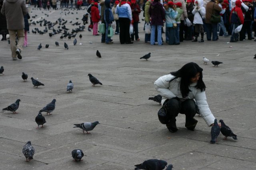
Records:
[[[192,83],[190,84],[191,92],[188,93],[188,96],[186,98],[183,98],[180,92],[181,78],[177,78],[169,82],[172,78],[174,78],[172,74],[167,74],[165,76],[158,78],[154,82],[155,89],[162,96],[162,101],[161,101],[162,104],[166,99],[175,98],[175,97],[178,97],[181,101],[184,101],[187,99],[194,99],[196,101],[196,105],[198,107],[199,113],[204,118],[204,121],[206,122],[206,124],[208,126],[212,125],[212,123],[214,123],[215,117],[210,111],[210,108],[206,101],[205,92],[204,91],[201,92],[200,89],[195,87],[196,83]]]

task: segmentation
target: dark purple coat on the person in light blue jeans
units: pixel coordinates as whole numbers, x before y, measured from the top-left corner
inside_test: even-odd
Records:
[[[163,25],[165,19],[164,7],[160,2],[152,2],[149,7],[149,15],[151,17],[151,25]]]

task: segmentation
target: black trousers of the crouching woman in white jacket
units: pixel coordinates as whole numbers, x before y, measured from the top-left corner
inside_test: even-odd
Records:
[[[178,116],[179,113],[186,115],[186,127],[191,127],[197,123],[197,120],[194,119],[194,116],[196,115],[198,108],[194,100],[189,99],[181,102],[178,98],[171,98],[167,101],[166,107],[169,123],[175,123],[175,117]],[[166,126],[168,127],[169,125],[166,124]]]

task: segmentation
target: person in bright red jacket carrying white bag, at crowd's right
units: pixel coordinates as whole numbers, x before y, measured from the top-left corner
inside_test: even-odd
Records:
[[[230,14],[230,22],[232,24],[232,35],[230,37],[230,42],[237,42],[238,41],[238,33],[235,33],[235,29],[240,24],[244,24],[244,16],[241,9],[242,2],[240,0],[236,1],[236,6],[232,8]]]

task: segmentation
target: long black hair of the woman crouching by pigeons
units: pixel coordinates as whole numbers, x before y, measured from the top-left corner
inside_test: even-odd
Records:
[[[206,87],[203,82],[202,71],[203,71],[203,69],[200,66],[198,66],[198,64],[193,63],[193,62],[187,63],[184,66],[182,66],[182,68],[180,68],[180,70],[175,71],[175,72],[170,72],[170,74],[172,74],[175,77],[172,78],[169,82],[180,77],[181,78],[180,91],[181,91],[182,97],[185,98],[188,96],[188,93],[191,92],[191,90],[189,89],[189,86],[191,84],[190,78],[196,76],[196,74],[198,72],[200,74],[199,74],[198,82],[196,84],[196,88],[199,88],[201,90],[201,92],[205,90]]]

